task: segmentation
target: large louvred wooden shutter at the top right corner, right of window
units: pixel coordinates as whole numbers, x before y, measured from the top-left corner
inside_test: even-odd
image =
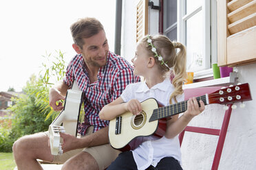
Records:
[[[217,1],[217,62],[256,62],[256,0]]]

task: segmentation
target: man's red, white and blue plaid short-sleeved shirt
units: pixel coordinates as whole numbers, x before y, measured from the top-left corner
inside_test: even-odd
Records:
[[[77,54],[67,66],[64,82],[72,87],[74,80],[83,90],[85,106],[85,120],[79,123],[78,132],[85,135],[87,127],[94,126],[94,132],[109,124],[109,121],[100,120],[98,113],[106,104],[118,98],[128,84],[139,82],[140,78],[134,76],[134,69],[127,60],[109,51],[107,64],[100,67],[98,80],[90,84],[86,64],[81,54]]]

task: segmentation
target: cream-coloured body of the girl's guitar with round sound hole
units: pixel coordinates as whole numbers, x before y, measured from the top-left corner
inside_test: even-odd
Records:
[[[158,129],[158,121],[149,122],[153,110],[158,108],[156,99],[142,101],[142,113],[134,115],[125,112],[120,117],[109,121],[109,142],[120,149],[138,136],[149,136]]]

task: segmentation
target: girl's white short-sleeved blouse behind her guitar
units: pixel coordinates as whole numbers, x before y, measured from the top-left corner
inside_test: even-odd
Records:
[[[127,102],[130,99],[138,99],[142,102],[153,97],[160,104],[169,106],[169,97],[173,92],[174,87],[169,79],[156,84],[152,88],[148,88],[145,82],[129,84],[122,92],[123,101]],[[184,101],[184,94],[177,97],[177,101]],[[175,101],[173,100],[173,104]],[[144,143],[141,143],[132,151],[134,160],[140,169],[146,169],[150,165],[156,167],[158,162],[164,157],[173,157],[181,163],[180,143],[178,136],[174,138],[158,138],[156,136],[142,137]]]

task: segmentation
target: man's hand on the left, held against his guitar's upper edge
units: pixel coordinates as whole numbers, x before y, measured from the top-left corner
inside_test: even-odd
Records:
[[[59,101],[61,99],[65,99],[65,97],[61,95],[61,92],[58,91],[56,88],[51,88],[49,93],[49,104],[50,106],[52,106],[53,110],[63,110],[63,105],[61,103],[56,105],[56,101]]]

